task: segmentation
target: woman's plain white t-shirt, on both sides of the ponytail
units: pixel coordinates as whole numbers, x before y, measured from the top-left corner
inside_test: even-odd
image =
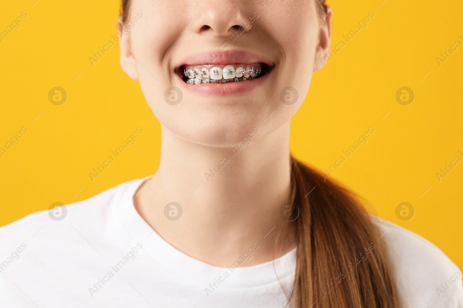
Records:
[[[275,260],[275,268],[273,262],[219,268],[195,260],[140,217],[133,206],[140,185],[129,181],[65,206],[61,216],[41,211],[0,228],[0,307],[285,306],[282,288],[291,288],[295,249]],[[420,236],[378,223],[404,307],[463,308],[457,266]]]

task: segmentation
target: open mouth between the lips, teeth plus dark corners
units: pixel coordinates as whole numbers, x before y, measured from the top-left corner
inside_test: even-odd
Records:
[[[190,85],[249,81],[262,77],[268,71],[269,67],[265,63],[257,62],[252,64],[183,65],[180,67],[183,81]]]

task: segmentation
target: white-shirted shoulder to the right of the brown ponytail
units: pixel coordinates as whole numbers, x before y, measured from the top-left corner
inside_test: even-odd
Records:
[[[374,217],[386,242],[405,307],[463,308],[462,273],[438,247],[394,223]]]

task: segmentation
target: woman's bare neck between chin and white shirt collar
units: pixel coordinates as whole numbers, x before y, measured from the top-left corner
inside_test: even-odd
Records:
[[[290,236],[274,249],[290,197],[289,122],[265,136],[253,133],[236,148],[212,147],[163,127],[159,168],[134,197],[140,215],[175,248],[214,266],[233,263],[253,243],[259,249],[246,266],[294,248]],[[181,219],[164,216],[169,202],[181,205]]]

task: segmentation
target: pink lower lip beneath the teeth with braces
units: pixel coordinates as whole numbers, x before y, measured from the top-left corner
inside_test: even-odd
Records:
[[[178,75],[177,75],[178,76]],[[226,84],[199,84],[191,85],[187,84],[183,79],[180,79],[183,86],[188,90],[198,95],[233,95],[240,94],[246,91],[250,91],[259,85],[262,85],[265,80],[269,77],[268,74],[244,81],[230,81]]]

